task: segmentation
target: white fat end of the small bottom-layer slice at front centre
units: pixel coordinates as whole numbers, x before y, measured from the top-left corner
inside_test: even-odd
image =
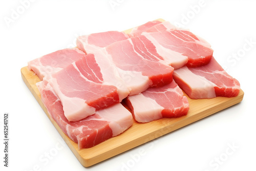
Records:
[[[155,100],[145,97],[143,94],[127,97],[132,104],[135,120],[138,122],[150,122],[162,118],[163,106]]]

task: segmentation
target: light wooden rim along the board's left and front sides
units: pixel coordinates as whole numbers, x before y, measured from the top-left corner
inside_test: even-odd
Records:
[[[158,137],[161,137],[162,135],[168,134],[170,132],[173,132],[175,130],[180,129],[183,126],[186,126],[190,123],[194,123],[202,118],[205,118],[207,116],[210,116],[216,112],[219,112],[223,109],[228,108],[229,106],[232,106],[234,104],[237,104],[239,102],[242,101],[243,96],[244,96],[244,92],[241,90],[239,95],[237,97],[232,97],[229,98],[230,100],[225,101],[224,103],[219,103],[218,104],[218,110],[216,108],[209,108],[207,109],[207,111],[202,111],[200,113],[198,113],[197,115],[192,115],[190,117],[180,117],[180,118],[175,118],[177,120],[177,122],[175,124],[167,124],[165,126],[163,126],[161,129],[156,130],[152,133],[149,133],[147,135],[144,135],[143,137],[139,137],[129,143],[120,145],[114,149],[111,149],[109,152],[105,152],[103,153],[103,155],[101,156],[94,156],[94,157],[89,157],[88,156],[82,156],[81,155],[81,151],[77,150],[77,144],[75,142],[73,142],[65,133],[63,133],[60,129],[60,127],[58,126],[58,124],[51,118],[51,116],[48,114],[47,109],[45,108],[44,104],[42,104],[42,101],[40,99],[40,95],[38,96],[38,94],[36,93],[36,89],[37,87],[32,87],[31,83],[28,81],[28,77],[27,77],[27,73],[28,72],[33,72],[33,71],[29,71],[28,67],[23,67],[21,69],[21,73],[22,73],[22,78],[25,82],[25,84],[27,85],[27,87],[29,88],[29,90],[31,91],[31,93],[33,94],[33,96],[36,98],[37,102],[40,104],[41,108],[44,110],[44,112],[46,113],[46,115],[48,116],[48,118],[51,120],[51,122],[53,123],[53,125],[55,126],[56,130],[59,132],[59,134],[61,135],[61,137],[65,140],[65,142],[68,144],[68,146],[70,147],[71,151],[73,152],[73,154],[76,156],[76,158],[78,159],[78,161],[84,166],[84,167],[89,167],[92,166],[94,164],[97,164],[103,160],[109,159],[111,157],[114,157],[116,155],[119,155],[125,151],[128,151],[136,146],[139,146],[141,144],[144,144],[148,141],[154,140]],[[30,73],[31,74],[31,73]],[[37,77],[37,76],[35,76]],[[38,77],[37,77],[38,78]],[[36,82],[39,80],[35,79],[35,81],[32,82]],[[40,80],[39,80],[40,81]],[[38,91],[38,90],[37,90]],[[164,118],[165,119],[165,118]],[[166,118],[169,119],[169,118]],[[103,158],[102,158],[103,156]]]

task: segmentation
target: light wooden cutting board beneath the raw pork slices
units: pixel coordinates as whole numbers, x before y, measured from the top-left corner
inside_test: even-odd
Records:
[[[159,20],[163,21],[163,19]],[[125,32],[129,31],[130,30],[126,30]],[[226,109],[229,106],[241,102],[244,96],[244,92],[242,90],[240,90],[237,97],[216,97],[212,99],[190,99],[184,93],[184,95],[188,98],[190,106],[186,116],[182,116],[180,118],[163,118],[149,123],[138,123],[134,121],[133,125],[124,133],[110,138],[94,147],[78,150],[77,143],[73,142],[61,131],[57,123],[49,116],[47,109],[42,103],[40,93],[35,85],[35,83],[39,82],[40,79],[33,71],[30,71],[28,67],[23,67],[21,69],[21,73],[24,82],[36,98],[37,102],[40,104],[41,108],[45,111],[46,115],[51,120],[61,137],[68,144],[76,158],[85,167],[89,167],[103,160],[109,159],[113,156],[128,151],[131,148],[139,146],[162,135],[175,131],[185,125],[196,122],[197,120]],[[125,107],[127,108],[127,106]]]

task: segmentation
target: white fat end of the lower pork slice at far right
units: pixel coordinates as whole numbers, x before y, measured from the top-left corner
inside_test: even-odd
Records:
[[[187,67],[182,67],[174,71],[174,75],[182,79],[192,90],[191,93],[187,92],[186,87],[179,85],[190,98],[214,98],[216,97],[215,83],[210,82],[205,77],[199,76],[191,72]]]

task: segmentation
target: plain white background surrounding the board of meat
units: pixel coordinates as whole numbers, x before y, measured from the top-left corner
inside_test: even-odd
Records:
[[[256,169],[255,1],[28,2],[0,3],[1,170]],[[157,140],[83,167],[69,147],[59,143],[60,135],[26,87],[20,69],[32,59],[74,47],[78,35],[122,31],[157,18],[179,23],[206,39],[221,66],[240,81],[244,99]],[[3,166],[5,112],[10,114],[8,168]]]

